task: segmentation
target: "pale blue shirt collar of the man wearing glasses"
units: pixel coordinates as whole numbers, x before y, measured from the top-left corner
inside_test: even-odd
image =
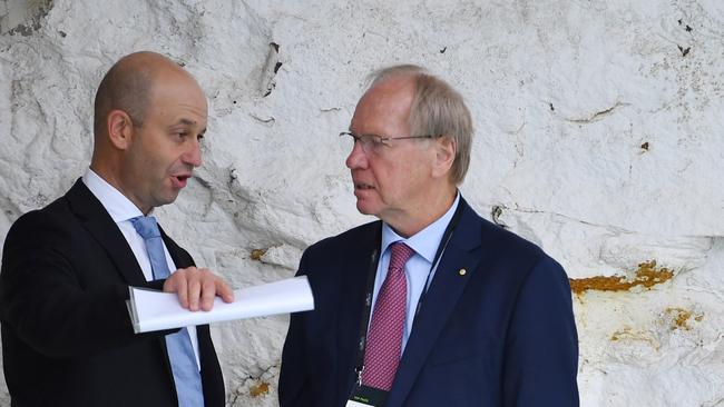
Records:
[[[447,212],[444,212],[443,216],[438,218],[438,220],[433,221],[432,224],[428,225],[424,229],[420,230],[419,232],[414,234],[408,239],[404,239],[400,235],[398,235],[392,227],[390,227],[388,224],[382,224],[382,252],[384,252],[390,245],[397,242],[397,241],[403,241],[405,245],[408,245],[412,250],[414,250],[415,254],[422,256],[428,262],[432,264],[432,260],[434,260],[434,255],[438,251],[438,247],[440,246],[440,242],[442,240],[442,235],[444,234],[444,230],[448,228],[448,225],[450,224],[450,220],[452,219],[452,216],[454,215],[456,209],[458,208],[458,205],[460,202],[460,192],[456,192],[456,199],[448,209]]]

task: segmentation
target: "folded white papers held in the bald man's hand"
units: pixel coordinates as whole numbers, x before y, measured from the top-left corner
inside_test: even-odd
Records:
[[[128,312],[136,334],[314,309],[305,276],[234,290],[235,300],[228,304],[216,297],[211,311],[185,309],[176,294],[136,287],[129,290]]]

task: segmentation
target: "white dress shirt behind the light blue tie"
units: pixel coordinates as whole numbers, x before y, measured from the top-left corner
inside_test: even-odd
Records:
[[[130,222],[131,218],[144,216],[144,214],[138,209],[134,202],[131,202],[126,196],[120,193],[114,186],[106,182],[100,178],[94,170],[88,168],[86,173],[82,176],[82,181],[90,189],[90,192],[98,198],[100,204],[106,208],[108,215],[120,229],[120,232],[128,241],[128,246],[134,251],[136,260],[140,266],[140,269],[144,271],[144,277],[146,281],[151,281],[154,279],[154,274],[150,269],[150,260],[148,260],[148,252],[146,251],[146,242],[144,238],[138,235],[134,225]],[[163,242],[163,240],[162,240]],[[168,264],[169,270],[176,270],[177,267],[174,264],[174,260],[164,244],[164,252],[166,254],[166,264]],[[196,355],[196,364],[200,370],[200,359],[198,357],[198,337],[196,336],[196,327],[188,327],[188,335],[192,339],[192,346],[194,348],[194,355]]]

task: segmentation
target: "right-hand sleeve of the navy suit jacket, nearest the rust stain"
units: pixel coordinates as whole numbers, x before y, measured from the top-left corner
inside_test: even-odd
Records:
[[[578,336],[566,272],[544,256],[524,281],[509,326],[503,405],[578,406]]]

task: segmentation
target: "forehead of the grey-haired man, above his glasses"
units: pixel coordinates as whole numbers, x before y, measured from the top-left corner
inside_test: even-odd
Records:
[[[360,99],[350,128],[361,133],[403,131],[409,127],[410,107],[414,98],[412,78],[390,78],[370,88]]]

